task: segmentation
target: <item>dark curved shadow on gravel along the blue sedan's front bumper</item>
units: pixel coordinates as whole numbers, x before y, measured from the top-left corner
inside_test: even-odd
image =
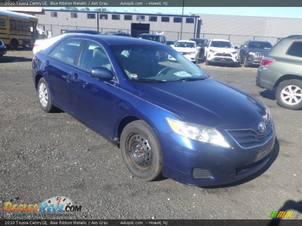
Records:
[[[257,178],[260,175],[262,175],[263,173],[265,173],[266,170],[268,170],[271,167],[273,162],[275,162],[275,160],[277,159],[277,156],[279,154],[279,150],[280,150],[280,145],[279,145],[279,141],[276,137],[274,148],[273,148],[272,153],[271,153],[271,158],[268,160],[268,162],[260,170],[258,170],[257,172],[255,172],[252,175],[249,175],[246,178],[243,178],[241,180],[238,180],[238,181],[235,181],[235,182],[232,182],[232,183],[229,183],[229,184],[215,185],[215,186],[200,186],[200,188],[215,189],[215,188],[233,187],[233,186],[237,186],[237,185],[241,185],[241,184],[244,184],[246,182],[249,182],[250,180],[254,180],[255,178]]]

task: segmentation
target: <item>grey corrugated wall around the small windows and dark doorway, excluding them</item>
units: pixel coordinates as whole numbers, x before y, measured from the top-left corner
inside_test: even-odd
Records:
[[[51,12],[56,12],[57,17],[51,17]],[[76,12],[76,11],[73,11]],[[87,12],[87,11],[77,11],[77,18],[71,18],[71,13],[69,11],[55,11],[55,10],[44,10],[43,13],[35,14],[38,18],[38,23],[45,26],[45,30],[52,31],[52,35],[61,34],[61,30],[72,30],[72,29],[87,29],[87,30],[98,30],[98,14],[97,12]],[[95,19],[87,19],[87,13],[95,13]],[[145,19],[137,21],[136,14],[120,14],[114,12],[99,12],[99,14],[107,14],[108,19],[99,19],[99,31],[117,31],[121,30],[125,33],[131,34],[131,23],[142,23],[150,24],[150,33],[164,32],[167,40],[179,40],[181,36],[181,23],[174,23],[174,16],[169,16],[169,22],[161,22],[161,16],[167,16],[165,14],[157,14],[157,22],[149,21],[148,14],[144,15]],[[120,19],[112,19],[112,14],[119,14]],[[124,20],[124,15],[132,15],[132,20]],[[180,15],[175,15],[175,17],[181,17]],[[187,16],[188,17],[188,16]],[[194,23],[186,23],[186,17],[183,18],[182,27],[182,39],[193,38],[196,27],[195,19]]]

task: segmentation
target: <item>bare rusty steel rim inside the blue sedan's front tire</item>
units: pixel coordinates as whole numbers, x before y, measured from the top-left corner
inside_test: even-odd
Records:
[[[146,137],[132,133],[126,141],[126,156],[131,165],[140,171],[147,171],[152,163],[151,148]]]

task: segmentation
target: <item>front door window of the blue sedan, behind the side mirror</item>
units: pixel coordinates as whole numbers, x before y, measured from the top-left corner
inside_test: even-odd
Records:
[[[103,48],[95,42],[87,41],[81,53],[78,66],[88,71],[94,67],[106,67],[112,71],[109,58]]]

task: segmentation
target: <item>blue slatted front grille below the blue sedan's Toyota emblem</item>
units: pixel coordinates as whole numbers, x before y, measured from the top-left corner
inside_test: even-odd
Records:
[[[253,148],[266,143],[273,136],[271,120],[266,124],[266,132],[259,134],[253,129],[227,130],[242,148]]]

